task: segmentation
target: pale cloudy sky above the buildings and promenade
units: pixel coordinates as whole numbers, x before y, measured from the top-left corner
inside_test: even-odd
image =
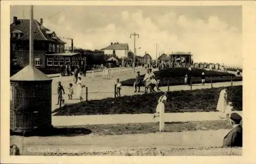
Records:
[[[12,6],[11,18],[29,19],[29,6]],[[34,19],[74,46],[101,49],[128,43],[137,55],[190,51],[195,62],[242,66],[240,6],[34,6]],[[70,40],[67,46],[70,46]],[[156,44],[158,48],[156,50]]]

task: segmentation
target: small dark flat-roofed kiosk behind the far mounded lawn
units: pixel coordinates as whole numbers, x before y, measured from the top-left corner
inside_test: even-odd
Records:
[[[192,57],[193,54],[191,54],[191,52],[172,52],[172,54],[170,54],[170,62],[173,64],[189,66],[193,63]]]

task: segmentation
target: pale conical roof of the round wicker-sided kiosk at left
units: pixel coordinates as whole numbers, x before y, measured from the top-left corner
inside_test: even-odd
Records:
[[[42,73],[35,67],[28,65],[22,70],[18,71],[16,74],[11,76],[11,81],[49,81],[52,78],[48,77],[46,74]]]

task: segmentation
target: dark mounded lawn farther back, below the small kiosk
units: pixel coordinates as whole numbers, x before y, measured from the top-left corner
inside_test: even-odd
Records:
[[[192,69],[192,83],[193,84],[200,84],[201,83],[201,74],[202,72],[205,73],[205,83],[218,83],[218,82],[225,82],[231,81],[231,76],[233,77],[233,81],[241,81],[242,77],[236,77],[232,73],[224,73],[224,72],[217,72],[217,71],[206,71],[198,68]],[[183,85],[184,84],[184,77],[187,73],[187,68],[178,67],[178,68],[169,68],[169,69],[162,69],[161,71],[155,71],[154,74],[160,78],[160,86],[167,86],[169,81],[170,86],[176,85]],[[145,74],[141,75],[142,79],[144,78]],[[133,86],[135,82],[135,78],[127,79],[121,81],[123,86]],[[141,84],[143,85],[143,84]]]

